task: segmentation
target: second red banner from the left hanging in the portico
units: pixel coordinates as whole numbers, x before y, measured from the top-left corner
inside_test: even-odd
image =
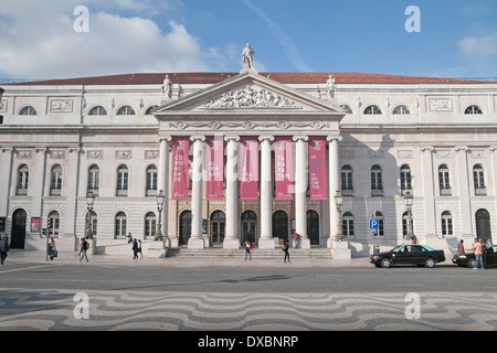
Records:
[[[207,200],[223,200],[223,138],[208,137],[205,142]]]

